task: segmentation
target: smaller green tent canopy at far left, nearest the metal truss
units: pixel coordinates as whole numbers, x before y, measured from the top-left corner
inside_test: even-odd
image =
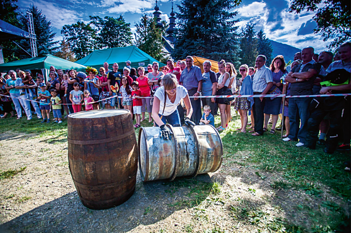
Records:
[[[75,69],[77,71],[85,72],[85,69],[86,69],[84,65],[80,65],[72,61],[68,61],[68,60],[47,54],[47,55],[39,55],[37,57],[0,64],[0,71],[9,71],[9,70],[15,71],[16,69],[49,70],[51,65],[55,66],[56,69],[62,69],[62,70]]]

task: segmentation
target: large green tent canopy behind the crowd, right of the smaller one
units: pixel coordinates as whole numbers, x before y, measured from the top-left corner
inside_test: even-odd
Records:
[[[92,66],[93,68],[99,70],[100,67],[104,66],[104,62],[109,63],[109,69],[112,70],[113,63],[118,63],[119,70],[122,70],[126,65],[125,62],[130,60],[132,62],[131,66],[133,68],[138,68],[139,66],[146,67],[148,64],[157,61],[147,53],[138,49],[135,46],[127,46],[120,48],[102,49],[96,50],[86,57],[77,60],[76,63]],[[159,63],[159,67],[165,66],[166,64]]]

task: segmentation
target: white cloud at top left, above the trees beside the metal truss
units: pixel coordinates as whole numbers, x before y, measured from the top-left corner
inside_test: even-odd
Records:
[[[61,8],[55,3],[39,0],[37,2],[22,2],[22,4],[24,7],[29,7],[30,4],[38,7],[46,18],[51,21],[52,27],[59,30],[62,29],[63,25],[76,23],[78,20],[81,20],[78,12],[67,8]]]

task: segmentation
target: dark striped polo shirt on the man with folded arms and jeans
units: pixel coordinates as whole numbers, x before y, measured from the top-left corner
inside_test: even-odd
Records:
[[[308,70],[315,70],[317,71],[317,74],[320,72],[320,65],[317,65],[317,63],[314,60],[311,60],[310,62],[307,62],[306,64],[299,64],[298,66],[295,66],[294,69],[291,71],[293,73],[303,73],[307,72]],[[309,95],[313,94],[312,88],[313,88],[313,82],[315,80],[317,75],[314,75],[313,77],[309,78],[308,80],[298,82],[298,83],[292,83],[290,85],[290,94],[291,95]]]

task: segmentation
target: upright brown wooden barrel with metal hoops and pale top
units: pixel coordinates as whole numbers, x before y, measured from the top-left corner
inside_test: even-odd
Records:
[[[83,205],[118,206],[135,190],[138,149],[128,110],[93,110],[68,116],[68,160]]]

